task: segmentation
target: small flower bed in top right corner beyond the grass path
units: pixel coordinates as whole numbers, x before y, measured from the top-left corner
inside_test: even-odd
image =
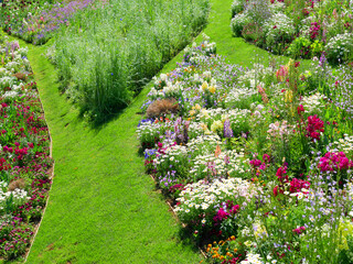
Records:
[[[232,30],[257,46],[293,58],[325,53],[330,63],[352,62],[350,1],[235,0]]]

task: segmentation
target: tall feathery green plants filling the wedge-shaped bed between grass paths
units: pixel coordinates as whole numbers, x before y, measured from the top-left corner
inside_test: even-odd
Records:
[[[207,0],[111,0],[77,13],[52,54],[63,88],[90,117],[116,112],[203,28],[207,10]]]

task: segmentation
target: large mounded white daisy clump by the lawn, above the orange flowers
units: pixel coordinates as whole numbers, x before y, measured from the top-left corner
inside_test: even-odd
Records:
[[[222,230],[233,220],[233,227],[227,230],[232,233],[238,211],[244,210],[257,191],[257,186],[242,178],[200,180],[184,187],[174,211],[199,234],[210,229]]]

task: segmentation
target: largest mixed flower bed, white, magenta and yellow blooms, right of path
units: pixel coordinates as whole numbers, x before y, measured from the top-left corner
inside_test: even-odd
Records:
[[[154,78],[145,165],[211,263],[352,263],[352,73],[244,69],[205,36]]]

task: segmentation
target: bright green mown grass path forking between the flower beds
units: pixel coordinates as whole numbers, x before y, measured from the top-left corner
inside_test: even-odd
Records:
[[[217,53],[244,66],[268,62],[265,51],[232,37],[232,0],[211,2],[204,32]],[[55,178],[28,263],[199,263],[201,254],[180,241],[180,224],[138,155],[137,112],[148,87],[116,119],[93,129],[60,95],[54,67],[43,56],[46,46],[29,48],[53,138]],[[180,61],[181,54],[162,72]]]

